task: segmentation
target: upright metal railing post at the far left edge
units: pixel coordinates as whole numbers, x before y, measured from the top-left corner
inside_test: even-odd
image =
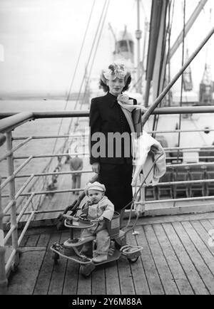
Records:
[[[10,132],[6,132],[6,147],[8,151],[12,149],[12,134]],[[11,152],[11,155],[7,158],[8,162],[8,173],[11,180],[9,182],[9,198],[13,201],[13,205],[11,206],[11,226],[16,226],[12,234],[12,246],[16,250],[16,256],[14,258],[14,265],[17,266],[19,264],[19,253],[18,249],[18,231],[17,231],[17,223],[16,223],[16,189],[15,189],[15,179],[14,179],[14,155]]]

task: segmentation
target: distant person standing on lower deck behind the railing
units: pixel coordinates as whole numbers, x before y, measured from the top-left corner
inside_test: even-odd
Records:
[[[83,169],[83,159],[78,157],[77,153],[75,157],[70,159],[70,169],[71,171],[81,171]],[[80,189],[81,187],[81,173],[71,174],[72,187],[71,189]],[[73,191],[73,194],[79,194],[78,191]]]

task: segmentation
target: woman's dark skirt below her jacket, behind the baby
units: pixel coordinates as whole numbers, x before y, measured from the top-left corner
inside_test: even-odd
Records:
[[[132,164],[101,163],[98,180],[105,185],[105,195],[113,203],[116,211],[120,212],[133,199],[132,171]],[[130,208],[130,206],[127,208]]]

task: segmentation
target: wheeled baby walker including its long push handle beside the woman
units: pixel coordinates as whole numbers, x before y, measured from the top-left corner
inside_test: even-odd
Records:
[[[156,164],[156,161],[158,159],[159,157],[153,162],[153,166],[154,164]],[[134,226],[138,221],[140,211],[136,211],[136,220],[133,226],[129,227],[133,207],[136,206],[136,208],[138,209],[138,205],[141,206],[142,203],[141,201],[136,201],[138,199],[138,192],[140,192],[141,187],[143,187],[143,184],[146,182],[146,179],[152,169],[153,167],[151,167],[140,187],[136,189],[133,200],[123,207],[123,210],[125,210],[128,206],[131,205],[128,224],[126,224],[125,228],[120,229],[120,214],[118,214],[116,211],[114,213],[113,219],[111,219],[111,221],[107,223],[108,233],[111,238],[111,246],[108,250],[108,258],[106,261],[103,261],[101,263],[93,263],[92,257],[88,258],[81,254],[81,248],[84,243],[92,242],[93,246],[96,246],[96,236],[88,236],[82,239],[73,238],[73,229],[89,229],[96,222],[96,220],[90,221],[86,219],[86,217],[84,217],[85,215],[83,214],[80,216],[77,215],[77,211],[79,209],[78,206],[85,197],[85,193],[83,192],[80,197],[78,197],[78,199],[73,202],[71,206],[66,207],[66,209],[63,211],[63,214],[61,214],[58,219],[57,228],[59,229],[61,225],[64,224],[64,226],[70,229],[71,237],[61,244],[54,243],[51,246],[51,250],[53,251],[52,258],[54,259],[54,263],[58,263],[58,258],[60,256],[75,261],[76,263],[80,264],[80,273],[85,277],[90,276],[91,272],[96,268],[96,266],[104,263],[109,263],[111,261],[116,261],[118,260],[118,258],[121,257],[121,255],[126,256],[128,261],[130,261],[131,263],[135,263],[138,260],[139,256],[141,256],[141,251],[143,250],[143,247],[131,246],[130,244],[126,243],[126,234],[134,229]],[[96,175],[95,177],[93,177],[93,179],[91,179],[90,182],[95,182],[97,178],[98,176]],[[71,211],[70,215],[66,214],[68,211]]]

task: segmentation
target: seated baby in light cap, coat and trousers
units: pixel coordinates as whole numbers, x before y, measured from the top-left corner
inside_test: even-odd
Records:
[[[97,219],[98,222],[89,229],[83,229],[81,238],[96,235],[96,251],[93,251],[92,261],[101,263],[107,260],[108,248],[110,246],[110,236],[106,226],[106,221],[111,221],[114,213],[114,206],[105,196],[106,188],[99,182],[89,183],[85,189],[88,201],[81,209],[82,214],[86,214],[87,219]],[[82,254],[90,255],[92,243],[88,242],[83,245]]]

